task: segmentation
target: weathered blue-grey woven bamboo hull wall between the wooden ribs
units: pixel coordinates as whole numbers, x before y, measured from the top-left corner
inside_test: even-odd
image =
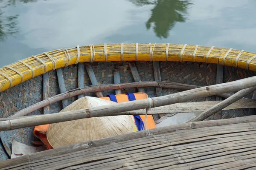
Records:
[[[74,54],[74,56],[76,56],[76,54]],[[61,56],[61,57],[65,58],[65,56]],[[95,58],[97,59],[97,55],[95,56]],[[125,59],[125,55],[124,55],[124,59]],[[87,62],[87,60],[90,61],[90,58],[86,59],[86,55],[85,55],[85,58],[82,60],[82,62]],[[113,58],[111,59],[111,57],[109,57],[109,60],[112,61]],[[130,59],[130,60],[132,61],[134,59]],[[172,61],[165,62],[162,59],[159,59],[159,60],[162,61],[160,62],[160,74],[161,74],[162,81],[179,82],[179,83],[184,83],[189,85],[198,85],[198,86],[216,84],[217,64],[204,63],[204,62],[172,62]],[[75,62],[75,59],[71,60],[70,63],[73,63],[73,62]],[[50,71],[52,69],[51,63],[52,62],[47,63],[47,66],[49,66],[49,68],[47,67],[47,71],[49,71],[49,97],[55,96],[61,93],[59,88],[57,73],[56,71]],[[139,73],[140,81],[155,80],[153,62],[137,61],[135,62],[135,64]],[[99,61],[99,62],[93,62],[91,63],[91,65],[93,68],[93,72],[96,76],[96,80],[98,81],[99,84],[115,83],[113,78],[113,71],[117,69],[116,65],[119,65],[119,68],[117,70],[119,71],[119,74],[120,74],[121,83],[128,83],[128,82],[135,81],[128,61],[120,62],[117,59],[117,62],[100,62]],[[78,88],[78,65],[73,64],[67,67],[63,67],[63,66],[64,66],[64,62],[59,65],[59,68],[63,72],[66,91],[70,91],[75,88]],[[254,69],[254,66],[252,65],[250,67],[250,70],[253,70],[253,69]],[[0,116],[2,118],[8,117],[16,113],[17,111],[27,108],[28,106],[31,106],[44,99],[43,75],[42,75],[44,68],[43,67],[38,68],[38,70],[40,71],[37,73],[38,74],[37,77],[34,77],[32,79],[28,78],[27,81],[24,81],[21,84],[17,83],[17,85],[13,86],[12,88],[8,88],[8,85],[9,85],[8,81],[5,78],[1,79],[0,77],[0,82],[2,82],[2,84],[0,84],[2,87],[2,92],[0,92]],[[255,72],[250,70],[246,70],[243,68],[235,68],[231,66],[224,66],[223,82],[230,82],[237,79],[255,76],[256,75]],[[31,74],[31,71],[27,71],[27,73]],[[27,77],[29,77],[28,74],[27,74]],[[16,78],[13,79],[14,82],[15,81],[18,82],[17,77],[18,76],[16,76]],[[88,86],[88,85],[92,85],[92,82],[87,73],[87,70],[84,68],[84,86]],[[149,97],[157,96],[156,88],[144,88],[144,90]],[[122,89],[122,93],[128,93],[128,92],[137,92],[137,89],[136,88]],[[163,89],[161,95],[167,95],[167,94],[172,94],[176,92],[178,92],[177,89]],[[102,91],[103,96],[106,96],[107,94],[115,94],[115,90]],[[90,93],[85,95],[96,96],[95,93]],[[251,97],[252,97],[252,94],[247,96],[247,98],[251,98]],[[71,104],[76,99],[77,99],[77,96],[69,98],[68,103]],[[196,99],[193,101],[210,101],[210,100],[215,100],[215,96]],[[62,107],[63,106],[61,101],[55,102],[49,106],[49,113],[59,112],[62,109]],[[247,112],[248,112],[248,109],[222,111],[221,119],[245,116]],[[43,114],[43,113],[44,113],[44,109],[41,108],[37,111],[33,111],[32,113],[29,113],[29,115],[36,115],[36,114]],[[23,128],[18,130],[4,131],[1,134],[1,140],[2,140],[2,143],[0,144],[0,160],[5,160],[5,159],[8,159],[8,153],[6,153],[6,150],[7,151],[9,150],[10,152],[10,148],[12,146],[13,141],[18,141],[24,144],[31,145],[32,141],[37,139],[35,139],[34,135],[32,134],[32,128]]]

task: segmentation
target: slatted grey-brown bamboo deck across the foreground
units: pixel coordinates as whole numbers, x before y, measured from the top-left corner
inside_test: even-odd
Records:
[[[2,170],[236,169],[256,167],[256,116],[152,129],[1,162]],[[192,124],[199,127],[195,128]],[[189,125],[189,126],[187,126]],[[134,135],[131,138],[131,135]],[[125,136],[125,137],[124,137]],[[130,136],[130,137],[129,137]],[[121,140],[120,140],[121,139]],[[12,162],[12,163],[10,163]]]

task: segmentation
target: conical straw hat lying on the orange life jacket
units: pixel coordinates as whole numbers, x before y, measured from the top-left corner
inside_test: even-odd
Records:
[[[61,112],[93,108],[113,103],[115,102],[86,96],[76,100],[71,105],[61,110]],[[47,129],[47,139],[52,147],[56,148],[67,144],[102,139],[134,131],[137,131],[137,127],[133,116],[93,117],[50,124]]]

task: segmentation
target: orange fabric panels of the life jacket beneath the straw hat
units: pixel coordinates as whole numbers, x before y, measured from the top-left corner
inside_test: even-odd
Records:
[[[145,93],[134,93],[134,96],[136,100],[140,99],[147,99],[148,95]],[[100,97],[101,99],[105,100],[110,100],[109,97]],[[129,102],[128,96],[126,94],[117,94],[116,95],[116,100],[118,103],[121,102]],[[145,115],[140,115],[140,118],[145,122]],[[154,119],[152,115],[147,115],[147,120],[148,120],[148,128],[145,127],[145,129],[154,129],[156,128],[156,125],[154,123]],[[47,140],[47,128],[49,127],[49,124],[47,125],[40,125],[40,126],[35,126],[34,129],[34,135],[39,138],[47,147],[47,149],[53,149],[53,147],[49,144]]]

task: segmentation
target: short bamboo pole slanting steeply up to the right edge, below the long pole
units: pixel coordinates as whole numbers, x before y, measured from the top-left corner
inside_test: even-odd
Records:
[[[256,87],[251,87],[251,88],[246,88],[246,89],[240,90],[236,94],[233,94],[232,96],[223,100],[222,102],[218,103],[217,105],[212,106],[212,108],[209,108],[209,110],[196,116],[194,119],[190,120],[189,122],[203,121],[204,119],[207,119],[209,116],[212,116],[214,113],[221,111],[222,109],[226,108],[228,105],[238,101],[242,97],[246,96],[247,94],[250,94],[252,91],[255,91],[255,90],[256,90]]]

